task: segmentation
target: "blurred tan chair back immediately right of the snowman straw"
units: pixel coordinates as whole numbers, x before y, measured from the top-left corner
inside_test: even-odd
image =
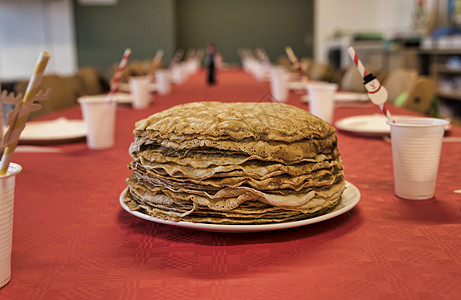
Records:
[[[402,93],[409,93],[416,83],[418,72],[414,69],[395,69],[381,82],[387,89],[388,101],[394,103]]]

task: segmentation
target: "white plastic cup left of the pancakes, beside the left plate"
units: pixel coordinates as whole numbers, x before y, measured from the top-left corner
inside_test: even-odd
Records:
[[[117,102],[107,97],[80,97],[86,127],[86,141],[90,149],[107,149],[114,145],[115,112]]]

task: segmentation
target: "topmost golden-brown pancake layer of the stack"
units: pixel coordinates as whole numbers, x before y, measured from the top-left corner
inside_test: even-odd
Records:
[[[296,142],[323,139],[335,128],[309,112],[273,102],[192,102],[174,106],[138,121],[134,131],[148,132],[152,138],[190,140],[254,139]]]

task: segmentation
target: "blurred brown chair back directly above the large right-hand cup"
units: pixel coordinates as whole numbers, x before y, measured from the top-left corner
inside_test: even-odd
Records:
[[[437,94],[437,82],[428,76],[419,76],[403,103],[403,107],[425,115],[433,115],[433,102]]]

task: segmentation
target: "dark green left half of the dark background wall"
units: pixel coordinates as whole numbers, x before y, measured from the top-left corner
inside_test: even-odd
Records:
[[[108,72],[126,48],[130,60],[151,59],[162,48],[171,59],[175,46],[174,0],[119,0],[113,6],[74,4],[80,66]]]

